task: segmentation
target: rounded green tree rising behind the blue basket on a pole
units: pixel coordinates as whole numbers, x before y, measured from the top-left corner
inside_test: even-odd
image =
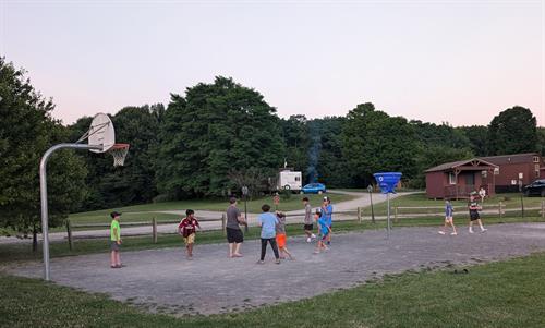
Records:
[[[414,127],[401,117],[358,105],[347,116],[342,130],[342,155],[360,186],[373,181],[377,171],[400,171],[404,179],[416,173]]]

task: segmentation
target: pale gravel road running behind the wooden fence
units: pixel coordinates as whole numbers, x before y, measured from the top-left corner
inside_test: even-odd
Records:
[[[337,194],[347,194],[347,195],[353,195],[356,196],[356,198],[347,201],[347,202],[340,202],[337,204],[334,204],[334,210],[335,211],[347,211],[347,210],[355,210],[358,207],[365,207],[371,204],[370,202],[370,196],[368,193],[360,193],[360,192],[346,192],[346,191],[329,191],[330,193],[337,193]],[[399,194],[392,194],[390,197],[395,198],[398,196],[407,195],[409,193],[399,193]],[[373,203],[382,203],[386,201],[386,196],[383,194],[374,194],[373,195]],[[227,208],[228,204],[226,204]],[[180,216],[185,215],[185,209],[182,210],[162,210],[162,211],[150,211],[149,214],[154,212],[164,212],[164,214],[175,214]],[[211,210],[196,210],[195,215],[197,218],[205,218],[205,219],[220,219],[221,215],[223,212],[221,211],[211,211]],[[296,217],[296,215],[303,215],[304,209],[301,210],[292,210],[288,211],[288,215],[292,217],[288,217],[287,221],[288,223],[295,223],[295,222],[302,222],[303,219],[302,217]],[[293,217],[295,216],[295,217]],[[353,220],[355,215],[335,215],[334,212],[334,220]],[[122,223],[123,221],[121,221]],[[257,226],[257,215],[256,214],[249,214],[249,224],[251,227]],[[204,230],[214,230],[214,229],[221,229],[221,221],[203,221],[201,222],[201,226]],[[178,224],[161,224],[157,227],[157,231],[159,233],[175,233],[178,229]],[[122,233],[124,235],[137,235],[137,234],[150,234],[152,233],[152,227],[150,226],[145,226],[145,227],[122,227]],[[75,238],[97,238],[97,236],[104,236],[107,238],[110,234],[109,229],[97,229],[97,230],[84,230],[84,231],[74,231],[73,235]],[[39,239],[41,240],[41,235],[39,235]],[[59,241],[64,241],[66,239],[66,233],[65,232],[52,232],[49,233],[49,240],[51,242],[59,242]],[[32,240],[21,240],[16,238],[2,238],[0,236],[0,244],[5,244],[5,243],[31,243]]]

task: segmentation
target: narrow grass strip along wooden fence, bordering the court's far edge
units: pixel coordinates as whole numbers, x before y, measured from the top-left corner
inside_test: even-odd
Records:
[[[485,224],[501,224],[501,223],[516,223],[516,222],[543,222],[541,217],[505,217],[505,218],[487,218]],[[411,218],[401,219],[397,223],[393,222],[393,229],[399,227],[439,227],[443,224],[441,218]],[[467,220],[456,221],[457,227],[465,228]],[[349,231],[363,231],[370,229],[386,229],[386,221],[377,221],[372,223],[370,221],[338,221],[335,222],[334,232],[335,234],[349,232]],[[289,236],[303,235],[301,224],[288,224],[287,233]],[[257,239],[259,236],[259,229],[257,227],[251,227],[250,231],[244,234],[246,240]],[[203,231],[198,232],[196,247],[199,244],[205,243],[225,243],[226,238],[221,231]],[[160,234],[157,244],[154,244],[152,236],[132,236],[123,238],[123,251],[136,251],[136,250],[150,250],[150,248],[162,248],[162,247],[183,247],[182,240],[175,234]],[[227,248],[226,248],[227,250]],[[50,256],[51,257],[62,257],[62,256],[74,256],[84,255],[92,253],[107,253],[109,252],[108,241],[106,239],[80,239],[74,242],[74,250],[70,251],[66,242],[55,242],[50,243]],[[227,251],[226,251],[227,252]],[[38,247],[38,252],[33,253],[31,245],[25,244],[3,244],[0,245],[0,263],[10,264],[17,260],[40,260],[41,250]]]

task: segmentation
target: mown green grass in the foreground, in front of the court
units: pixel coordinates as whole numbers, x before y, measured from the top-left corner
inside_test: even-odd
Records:
[[[148,314],[102,294],[0,275],[1,327],[545,327],[545,254],[405,272],[227,315]],[[61,309],[62,311],[59,311]]]

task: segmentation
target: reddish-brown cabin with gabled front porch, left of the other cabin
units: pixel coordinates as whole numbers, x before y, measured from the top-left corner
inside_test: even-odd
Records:
[[[473,191],[484,187],[487,195],[495,194],[495,170],[498,166],[482,158],[446,162],[427,169],[428,198],[467,198]]]

